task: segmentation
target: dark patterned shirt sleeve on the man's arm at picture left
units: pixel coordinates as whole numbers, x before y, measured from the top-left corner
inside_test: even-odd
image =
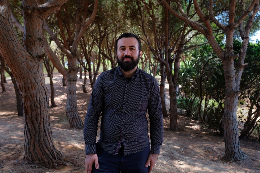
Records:
[[[84,123],[83,136],[86,145],[86,154],[96,153],[97,123],[103,108],[103,101],[103,75],[100,74],[93,86]]]

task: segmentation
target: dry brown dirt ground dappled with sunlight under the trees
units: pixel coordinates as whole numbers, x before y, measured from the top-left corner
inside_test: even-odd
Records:
[[[59,149],[67,165],[56,169],[44,169],[38,164],[24,162],[23,117],[16,112],[15,92],[10,78],[5,83],[6,92],[0,94],[0,173],[83,173],[84,140],[83,130],[69,127],[65,113],[66,87],[62,86],[60,74],[54,74],[55,102],[58,107],[50,108],[51,128],[55,147]],[[87,111],[88,93],[82,91],[83,79],[77,82],[77,105],[82,121]],[[48,77],[46,84],[49,88]],[[170,119],[164,118],[164,142],[153,173],[209,173],[209,172],[260,172],[260,144],[241,141],[241,148],[249,157],[241,162],[223,162],[224,140],[214,132],[203,129],[198,121],[179,115],[178,132],[169,131]]]

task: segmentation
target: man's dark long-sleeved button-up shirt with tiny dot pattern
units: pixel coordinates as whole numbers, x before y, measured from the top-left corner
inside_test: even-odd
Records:
[[[139,68],[131,78],[125,78],[119,66],[102,72],[94,84],[85,118],[86,154],[96,153],[100,113],[99,143],[105,151],[117,155],[121,143],[124,155],[143,151],[149,144],[147,110],[151,153],[159,154],[163,120],[160,91],[155,78]]]

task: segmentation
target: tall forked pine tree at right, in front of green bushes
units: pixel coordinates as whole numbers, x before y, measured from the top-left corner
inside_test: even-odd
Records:
[[[246,155],[241,151],[238,138],[239,133],[237,128],[236,111],[238,96],[240,93],[239,85],[241,75],[243,69],[248,65],[244,63],[244,60],[249,41],[249,32],[255,15],[259,11],[259,0],[252,0],[249,4],[244,1],[237,4],[236,0],[231,0],[228,6],[224,6],[226,4],[222,6],[222,12],[219,12],[221,10],[217,9],[218,4],[214,4],[213,0],[210,0],[209,4],[200,4],[197,0],[190,0],[189,4],[193,3],[194,10],[197,12],[200,21],[195,21],[192,18],[189,18],[184,12],[185,9],[183,6],[185,6],[185,4],[181,4],[179,0],[174,1],[174,4],[178,6],[179,13],[176,12],[177,10],[171,8],[171,5],[169,5],[166,0],[162,0],[162,2],[174,16],[185,21],[187,24],[192,26],[193,29],[201,32],[209,41],[214,52],[223,62],[226,86],[224,102],[225,109],[223,114],[225,156],[223,158],[226,160],[245,159]],[[215,1],[215,3],[218,3],[218,1]],[[245,9],[245,5],[247,6],[247,9]],[[209,6],[209,9],[205,10],[205,8],[203,8],[204,6]],[[213,11],[213,7],[216,8],[215,11]],[[225,11],[224,9],[228,9],[228,11]],[[249,17],[247,17],[248,15]],[[228,18],[229,21],[222,21],[222,19],[226,18]],[[244,21],[246,22],[246,25],[243,30]],[[226,41],[224,48],[216,41],[212,26],[218,27],[225,33]],[[236,29],[238,29],[242,39],[242,46],[239,54],[234,54],[233,52],[233,36]],[[235,64],[234,59],[236,58],[238,58],[238,61]]]

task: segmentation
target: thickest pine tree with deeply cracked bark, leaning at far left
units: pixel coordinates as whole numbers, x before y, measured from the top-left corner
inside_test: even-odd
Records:
[[[43,21],[67,0],[37,4],[33,0],[22,2],[24,17],[23,45],[12,25],[9,2],[0,3],[0,53],[11,69],[24,109],[25,160],[56,167],[63,163],[62,154],[53,144],[50,128],[48,90],[44,82],[42,59]]]

